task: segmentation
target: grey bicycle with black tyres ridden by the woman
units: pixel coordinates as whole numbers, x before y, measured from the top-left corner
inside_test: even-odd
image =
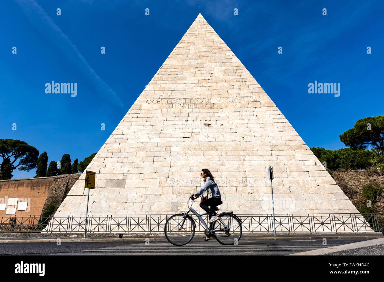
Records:
[[[190,206],[189,200],[192,200]],[[193,195],[188,199],[187,204],[189,211],[172,215],[166,221],[164,234],[169,243],[175,246],[183,246],[188,244],[194,237],[196,224],[192,216],[188,215],[190,211],[192,211],[192,213],[194,213],[194,215],[199,218],[201,223],[204,225],[204,233],[207,236],[204,238],[205,241],[208,241],[209,237],[214,237],[220,244],[233,245],[236,241],[240,240],[242,235],[241,220],[237,217],[237,215],[233,214],[233,211],[218,213],[218,220],[211,223],[210,227],[208,227],[201,216],[209,213],[202,213],[199,215],[197,211],[192,208],[194,200],[195,198]]]

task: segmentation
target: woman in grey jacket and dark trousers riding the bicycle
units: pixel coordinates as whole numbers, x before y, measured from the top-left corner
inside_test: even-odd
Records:
[[[218,216],[216,216],[216,207],[222,203],[221,194],[209,169],[202,169],[200,175],[204,179],[205,183],[199,189],[199,191],[194,194],[194,197],[197,199],[202,196],[205,191],[208,190],[209,197],[207,200],[200,203],[200,207],[209,213],[210,219],[208,223],[211,223],[218,220]]]

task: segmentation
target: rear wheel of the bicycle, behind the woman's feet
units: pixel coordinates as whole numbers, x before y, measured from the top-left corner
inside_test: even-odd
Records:
[[[212,230],[225,229],[222,231],[214,231],[216,240],[223,245],[233,245],[240,240],[242,235],[242,225],[236,216],[230,213],[219,216],[219,219],[214,221]]]

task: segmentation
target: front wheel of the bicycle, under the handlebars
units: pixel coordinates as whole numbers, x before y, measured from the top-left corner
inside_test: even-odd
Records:
[[[175,246],[188,244],[195,235],[195,222],[189,215],[172,215],[164,226],[164,234],[169,243]]]

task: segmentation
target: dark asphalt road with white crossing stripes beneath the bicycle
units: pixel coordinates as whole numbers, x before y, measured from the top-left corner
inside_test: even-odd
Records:
[[[185,246],[174,246],[168,241],[126,242],[61,242],[56,243],[3,243],[0,255],[285,255],[310,251],[366,239],[328,239],[323,246],[321,239],[240,239],[237,246],[223,246],[215,239],[204,241],[195,236]],[[148,244],[149,242],[149,244]],[[146,244],[147,243],[147,244]]]

